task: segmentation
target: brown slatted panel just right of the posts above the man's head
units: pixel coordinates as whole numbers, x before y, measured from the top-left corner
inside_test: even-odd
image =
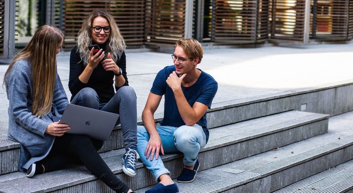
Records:
[[[256,41],[256,0],[215,0],[214,41],[222,44]]]

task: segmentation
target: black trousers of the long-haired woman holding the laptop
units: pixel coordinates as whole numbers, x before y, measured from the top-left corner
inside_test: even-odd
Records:
[[[46,172],[61,169],[70,163],[82,164],[112,190],[127,193],[129,188],[114,175],[97,152],[102,145],[103,141],[98,139],[64,134],[55,138],[48,156],[37,164],[39,167],[44,165]]]

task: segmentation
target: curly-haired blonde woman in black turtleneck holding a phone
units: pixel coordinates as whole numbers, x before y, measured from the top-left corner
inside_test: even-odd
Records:
[[[126,149],[123,171],[133,177],[139,158],[137,110],[136,94],[126,76],[125,47],[113,16],[104,10],[91,12],[71,51],[69,89],[72,104],[120,114],[117,124],[121,124]]]

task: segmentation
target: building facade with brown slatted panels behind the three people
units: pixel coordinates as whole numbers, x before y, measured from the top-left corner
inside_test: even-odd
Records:
[[[211,45],[353,38],[353,0],[0,0],[0,58],[13,57],[46,23],[64,31],[71,50],[94,9],[115,17],[127,48],[171,46],[181,37]]]

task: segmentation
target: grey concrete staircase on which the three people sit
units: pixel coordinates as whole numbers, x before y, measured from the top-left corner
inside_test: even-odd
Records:
[[[353,110],[352,96],[353,85],[340,84],[213,104],[200,170],[195,182],[178,184],[180,192],[274,192],[352,160],[353,136],[328,132],[330,115]],[[135,178],[123,173],[121,132],[115,128],[101,157],[132,190],[143,193],[156,182],[140,161]],[[112,192],[81,165],[26,178],[17,172],[19,146],[0,138],[1,193]],[[182,155],[161,158],[176,178]]]

